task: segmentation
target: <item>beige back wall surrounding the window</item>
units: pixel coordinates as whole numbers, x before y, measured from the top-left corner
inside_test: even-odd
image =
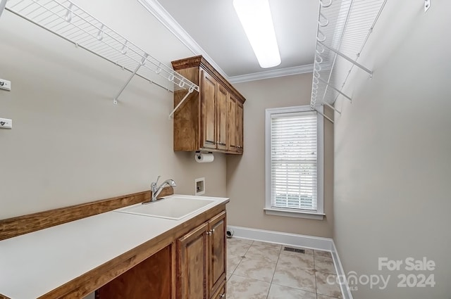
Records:
[[[265,215],[265,109],[309,105],[311,74],[235,84],[245,96],[245,152],[227,157],[228,224],[311,236],[332,236],[333,125],[325,124],[324,220]]]

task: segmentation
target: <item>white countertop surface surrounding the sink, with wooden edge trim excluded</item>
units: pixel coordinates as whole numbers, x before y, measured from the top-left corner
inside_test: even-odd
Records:
[[[181,220],[111,211],[0,241],[0,294],[38,298],[228,201],[202,198],[216,202]]]

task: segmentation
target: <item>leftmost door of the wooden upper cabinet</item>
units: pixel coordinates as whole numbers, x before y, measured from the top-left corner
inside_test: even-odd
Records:
[[[202,148],[216,148],[216,80],[201,70],[201,144]]]

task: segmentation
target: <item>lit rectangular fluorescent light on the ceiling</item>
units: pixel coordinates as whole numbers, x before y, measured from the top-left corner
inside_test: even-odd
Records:
[[[261,68],[280,65],[269,0],[233,0],[233,7]]]

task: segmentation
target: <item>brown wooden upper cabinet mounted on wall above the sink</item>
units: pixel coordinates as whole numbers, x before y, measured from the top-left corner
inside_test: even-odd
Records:
[[[239,115],[230,116],[230,97],[235,106],[240,105],[241,115],[245,98],[202,56],[173,61],[172,65],[200,88],[199,93],[194,91],[174,113],[174,151],[242,153],[242,120],[237,127]],[[174,107],[186,93],[174,91]],[[237,108],[235,111],[239,113]]]

